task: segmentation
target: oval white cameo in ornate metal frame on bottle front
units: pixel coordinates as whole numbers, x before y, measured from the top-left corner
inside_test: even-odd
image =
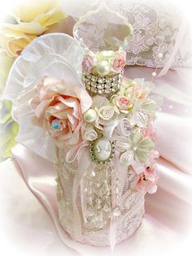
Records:
[[[91,144],[91,157],[98,163],[110,161],[113,154],[113,144],[109,139],[96,139]]]

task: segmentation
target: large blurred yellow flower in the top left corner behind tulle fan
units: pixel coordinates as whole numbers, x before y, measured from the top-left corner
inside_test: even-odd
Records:
[[[13,16],[16,24],[1,24],[0,45],[9,56],[15,57],[29,42],[67,17],[55,0],[21,2]]]

